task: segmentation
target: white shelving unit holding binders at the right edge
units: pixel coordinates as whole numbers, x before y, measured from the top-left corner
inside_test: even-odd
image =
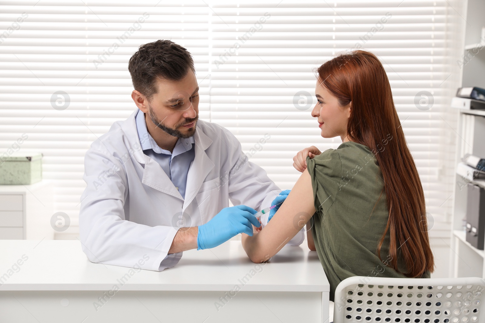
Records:
[[[461,69],[461,87],[485,88],[485,39],[481,39],[485,27],[485,1],[468,0],[464,58],[468,58]],[[454,101],[453,101],[454,102]],[[453,105],[453,104],[452,104]],[[485,110],[457,108],[458,138],[455,165],[469,153],[485,158]],[[470,181],[455,173],[453,188],[452,246],[450,250],[450,272],[452,277],[485,278],[485,251],[471,246],[466,241],[463,219],[467,214],[467,183]],[[471,181],[485,188],[485,181]]]

